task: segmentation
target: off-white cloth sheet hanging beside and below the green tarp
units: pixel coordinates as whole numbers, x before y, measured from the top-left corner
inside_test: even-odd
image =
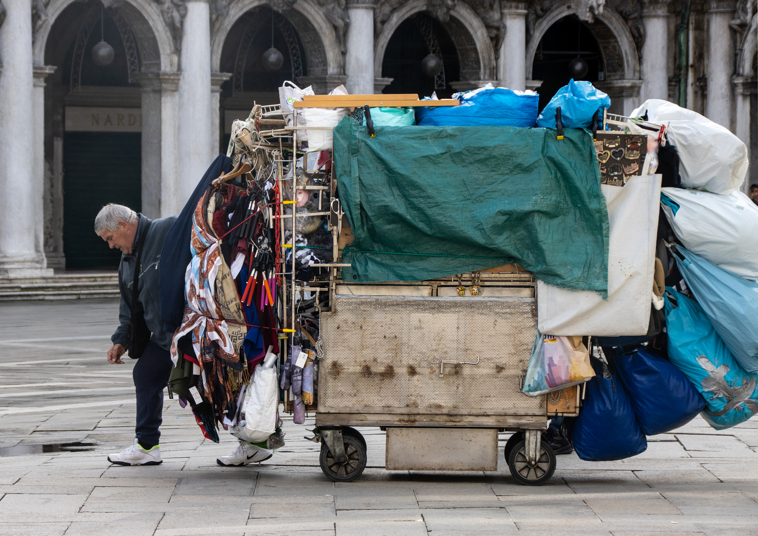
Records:
[[[660,175],[631,177],[624,187],[601,184],[610,223],[608,300],[587,290],[537,281],[542,333],[620,337],[650,327]]]

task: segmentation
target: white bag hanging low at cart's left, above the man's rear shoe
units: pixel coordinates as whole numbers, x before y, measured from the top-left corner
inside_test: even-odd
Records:
[[[247,392],[248,397],[243,406],[243,412],[240,412],[240,426],[233,434],[250,443],[265,441],[277,428],[277,410],[279,409],[277,369],[257,365]]]

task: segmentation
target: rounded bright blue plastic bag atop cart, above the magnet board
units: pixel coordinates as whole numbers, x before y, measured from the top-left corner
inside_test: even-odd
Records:
[[[565,128],[590,127],[592,117],[600,108],[610,108],[611,98],[590,82],[572,78],[550,99],[537,118],[537,127],[556,127],[556,108],[561,107],[561,122]]]

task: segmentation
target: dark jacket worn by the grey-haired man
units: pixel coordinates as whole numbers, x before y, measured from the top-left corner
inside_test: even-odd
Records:
[[[121,290],[121,303],[118,306],[119,326],[111,337],[114,344],[121,344],[124,348],[129,347],[127,332],[129,329],[129,316],[132,303],[132,286],[134,284],[134,267],[137,259],[137,244],[145,234],[142,259],[140,259],[139,280],[137,281],[137,311],[145,313],[145,323],[152,331],[151,339],[163,349],[171,348],[171,335],[163,331],[161,321],[160,292],[158,279],[161,261],[161,248],[164,238],[176,221],[176,216],[161,218],[150,221],[141,214],[137,215],[137,232],[134,234],[132,252],[121,255],[121,263],[118,265],[118,288]],[[150,224],[148,228],[147,225]],[[161,270],[163,269],[160,266]]]

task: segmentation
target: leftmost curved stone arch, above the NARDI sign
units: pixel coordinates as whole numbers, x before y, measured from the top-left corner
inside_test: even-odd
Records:
[[[48,5],[49,16],[40,25],[33,45],[35,65],[45,64],[45,48],[53,24],[64,9],[74,2],[77,0],[52,0]],[[142,71],[176,71],[177,55],[174,53],[174,40],[155,2],[124,0],[114,9],[127,20],[134,33]]]

